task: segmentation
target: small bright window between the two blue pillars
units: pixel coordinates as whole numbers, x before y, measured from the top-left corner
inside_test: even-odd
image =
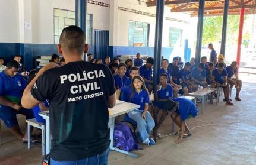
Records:
[[[169,47],[181,47],[182,29],[170,28],[169,30]]]

